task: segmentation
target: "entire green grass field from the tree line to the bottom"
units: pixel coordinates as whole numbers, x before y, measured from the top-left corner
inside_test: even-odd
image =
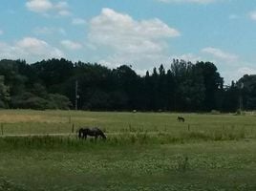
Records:
[[[0,123],[0,190],[256,190],[254,115],[3,110]]]

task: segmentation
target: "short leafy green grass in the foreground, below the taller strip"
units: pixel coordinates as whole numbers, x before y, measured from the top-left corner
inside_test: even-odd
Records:
[[[63,146],[2,151],[0,182],[26,190],[256,188],[255,141]]]

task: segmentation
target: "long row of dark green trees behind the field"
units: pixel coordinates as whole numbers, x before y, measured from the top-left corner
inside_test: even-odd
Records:
[[[144,76],[131,66],[109,69],[98,64],[51,59],[27,64],[0,61],[0,108],[108,111],[235,111],[256,108],[256,75],[224,87],[211,62],[173,60]],[[244,84],[243,89],[241,84]]]

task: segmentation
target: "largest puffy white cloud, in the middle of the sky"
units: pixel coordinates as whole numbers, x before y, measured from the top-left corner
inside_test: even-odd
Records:
[[[148,65],[161,61],[168,48],[165,40],[179,35],[158,18],[137,21],[105,8],[90,21],[88,39],[96,50],[108,53],[101,60]]]

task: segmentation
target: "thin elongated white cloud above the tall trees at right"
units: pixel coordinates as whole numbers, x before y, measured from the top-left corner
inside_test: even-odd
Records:
[[[209,53],[215,58],[222,59],[226,62],[232,62],[238,60],[238,55],[235,55],[233,53],[225,53],[224,51],[220,49],[216,49],[213,47],[207,47],[202,50],[202,53]]]

